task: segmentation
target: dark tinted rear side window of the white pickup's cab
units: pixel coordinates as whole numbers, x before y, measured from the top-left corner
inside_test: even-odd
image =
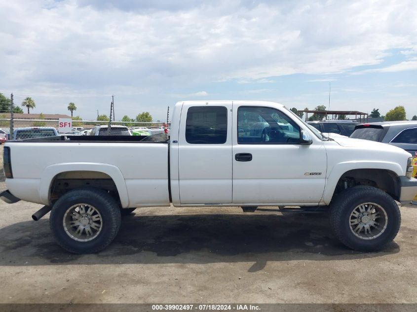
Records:
[[[227,139],[227,108],[194,106],[187,112],[186,141],[190,144],[223,144]]]

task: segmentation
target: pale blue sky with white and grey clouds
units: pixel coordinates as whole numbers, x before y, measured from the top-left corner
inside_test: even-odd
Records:
[[[0,92],[164,119],[181,100],[417,114],[417,1],[0,0]],[[102,96],[92,96],[102,95]]]

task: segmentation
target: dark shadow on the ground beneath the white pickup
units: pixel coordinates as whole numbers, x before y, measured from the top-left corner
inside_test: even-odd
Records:
[[[383,251],[350,250],[330,233],[327,215],[200,214],[130,215],[105,250],[75,255],[59,247],[47,218],[0,229],[0,266],[116,263],[255,262],[344,260],[399,252],[396,243]],[[250,270],[250,271],[251,271]]]

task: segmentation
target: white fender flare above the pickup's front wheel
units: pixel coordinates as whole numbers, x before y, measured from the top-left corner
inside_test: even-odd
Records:
[[[329,205],[333,194],[335,193],[336,185],[339,182],[341,176],[350,171],[357,169],[381,169],[391,171],[397,176],[404,175],[403,168],[397,163],[387,161],[346,161],[336,164],[333,169],[328,173],[326,187],[323,194],[323,202]]]

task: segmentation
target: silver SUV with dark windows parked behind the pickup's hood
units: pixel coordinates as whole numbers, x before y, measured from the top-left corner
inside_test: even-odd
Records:
[[[383,121],[357,125],[350,138],[388,143],[414,156],[417,152],[417,121]]]

